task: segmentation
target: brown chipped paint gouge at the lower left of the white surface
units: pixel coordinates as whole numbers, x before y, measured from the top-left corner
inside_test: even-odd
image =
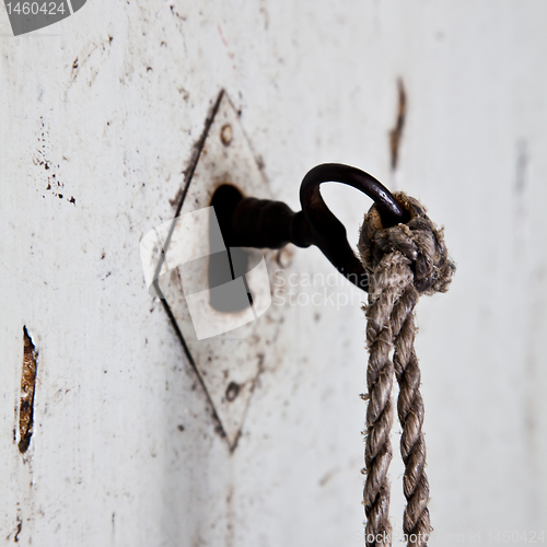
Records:
[[[21,404],[19,409],[19,451],[24,454],[31,444],[34,424],[34,389],[36,386],[36,371],[38,352],[23,327],[23,372],[21,374]]]

